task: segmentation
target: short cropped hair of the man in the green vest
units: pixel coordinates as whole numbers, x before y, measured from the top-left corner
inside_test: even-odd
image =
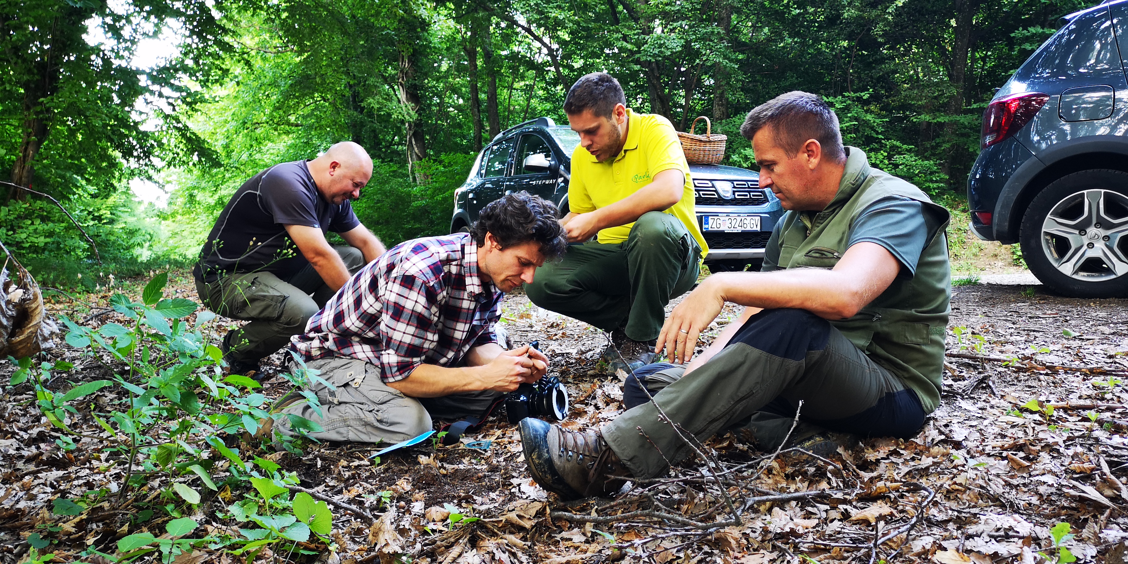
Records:
[[[817,94],[794,90],[756,106],[744,117],[740,134],[751,141],[764,127],[772,127],[773,141],[790,158],[795,158],[803,143],[813,139],[830,160],[846,160],[838,116]]]

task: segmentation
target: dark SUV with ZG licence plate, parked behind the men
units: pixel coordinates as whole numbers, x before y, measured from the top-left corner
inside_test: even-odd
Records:
[[[510,192],[528,191],[569,211],[572,150],[580,135],[549,117],[538,117],[497,134],[482,150],[466,183],[455,191],[450,231],[464,231],[485,204]],[[721,165],[689,165],[698,226],[708,243],[710,270],[759,270],[764,247],[783,208],[759,174]]]

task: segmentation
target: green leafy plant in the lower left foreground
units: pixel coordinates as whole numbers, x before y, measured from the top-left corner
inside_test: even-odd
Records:
[[[276,462],[255,457],[252,464],[244,460],[239,449],[229,447],[227,437],[239,437],[240,443],[254,449],[254,437],[262,422],[273,417],[271,400],[258,391],[261,385],[239,374],[224,376],[222,354],[208,342],[202,326],[215,316],[197,310],[191,300],[165,298],[167,274],[158,274],[143,289],[140,301],[117,293],[111,298],[113,309],[130,319],[130,324],[108,323],[98,328],[81,326],[63,317],[68,327],[67,342],[86,354],[113,363],[112,379],[100,379],[71,386],[58,391],[60,371],[70,370],[70,363],[42,362],[29,359],[12,361],[16,370],[10,385],[30,384],[36,393],[36,405],[47,421],[62,431],[56,441],[63,449],[77,449],[78,434],[71,429],[69,417],[79,413],[83,399],[111,388],[117,393],[108,403],[88,404],[89,416],[108,433],[102,450],[111,455],[111,465],[126,466],[118,496],[142,484],[161,478],[161,495],[157,505],[138,513],[138,522],[151,518],[153,509],[173,518],[169,536],[152,538],[150,534],[131,535],[118,543],[120,561],[127,562],[153,550],[161,550],[164,559],[175,558],[187,546],[203,539],[180,539],[191,532],[182,511],[185,505],[203,503],[204,492],[218,492],[221,485],[249,487],[257,496],[248,503],[235,504],[232,514],[241,521],[254,522],[261,528],[244,529],[241,552],[266,544],[290,540],[306,541],[310,534],[326,540],[332,528],[332,513],[325,502],[314,502],[309,494],[289,497],[289,486],[298,483],[296,474],[282,474]],[[195,314],[195,320],[190,316]],[[311,381],[328,385],[302,362],[285,374],[299,389]],[[319,408],[317,396],[302,391],[306,400]],[[290,429],[298,433],[319,428],[299,416],[287,415]],[[97,437],[83,435],[87,439]],[[274,441],[290,451],[300,452],[294,440],[281,435],[266,435],[262,441]],[[249,443],[247,441],[250,441]],[[213,477],[215,466],[226,461],[228,476],[222,484]],[[78,515],[102,502],[105,490],[77,499],[55,499],[52,512],[56,515]],[[297,508],[292,504],[297,502]],[[148,512],[148,514],[143,514]],[[177,525],[174,525],[177,523]],[[195,523],[192,522],[194,529]],[[148,536],[146,536],[148,535]],[[230,539],[211,539],[220,545]],[[254,546],[252,546],[254,545]],[[100,554],[100,553],[99,553]],[[108,557],[107,557],[108,558]]]

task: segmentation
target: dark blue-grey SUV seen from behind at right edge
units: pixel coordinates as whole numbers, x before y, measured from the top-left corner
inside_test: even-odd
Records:
[[[1128,294],[1128,0],[1070,14],[992,99],[971,228],[1079,298]],[[1118,45],[1119,42],[1119,45]]]

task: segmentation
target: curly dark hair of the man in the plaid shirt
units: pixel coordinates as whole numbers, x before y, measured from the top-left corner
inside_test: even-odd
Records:
[[[505,194],[482,209],[470,226],[470,237],[479,247],[486,244],[487,232],[502,248],[537,241],[545,258],[556,258],[567,250],[557,213],[556,205],[540,196],[523,191]]]

